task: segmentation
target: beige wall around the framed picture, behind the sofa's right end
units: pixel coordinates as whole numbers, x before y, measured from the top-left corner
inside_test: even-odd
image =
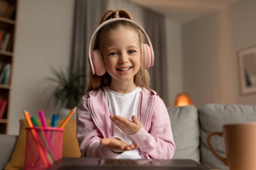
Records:
[[[256,44],[256,1],[243,0],[182,28],[184,90],[196,106],[256,105],[240,95],[237,52]]]

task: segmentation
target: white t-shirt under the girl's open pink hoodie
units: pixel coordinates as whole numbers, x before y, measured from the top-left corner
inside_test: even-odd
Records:
[[[137,87],[134,91],[127,94],[120,94],[108,86],[104,87],[105,98],[108,104],[108,108],[110,110],[110,115],[119,115],[125,117],[129,120],[132,120],[132,115],[138,117],[139,111],[139,98],[142,91],[141,87]],[[134,141],[130,138],[126,133],[121,131],[115,124],[112,123],[112,136],[120,137],[126,143],[132,144]],[[130,150],[123,152],[119,159],[142,159],[139,154],[139,150]]]

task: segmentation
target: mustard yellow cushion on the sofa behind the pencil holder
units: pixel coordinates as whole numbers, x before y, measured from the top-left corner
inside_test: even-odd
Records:
[[[40,119],[36,119],[39,126],[42,126]],[[50,126],[50,120],[46,120],[47,125]],[[64,120],[58,120],[57,127],[60,127]],[[26,148],[26,131],[27,121],[25,119],[20,120],[20,132],[17,139],[16,146],[10,161],[4,167],[4,170],[22,170],[25,163],[25,148]],[[62,144],[62,157],[80,157],[79,144],[76,139],[76,119],[70,119],[63,132],[63,144]]]

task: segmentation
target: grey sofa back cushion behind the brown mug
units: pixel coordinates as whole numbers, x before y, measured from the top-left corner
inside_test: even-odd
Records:
[[[211,169],[228,170],[209,150],[207,134],[211,131],[221,131],[223,124],[256,121],[256,106],[237,104],[206,104],[198,109],[200,119],[200,150],[202,165]],[[213,136],[211,143],[215,150],[223,157],[225,155],[222,138]]]

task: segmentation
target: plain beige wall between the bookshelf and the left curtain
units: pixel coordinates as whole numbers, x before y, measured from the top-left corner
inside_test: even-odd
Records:
[[[49,64],[67,68],[70,62],[73,0],[19,0],[8,134],[18,134],[23,108],[49,119],[55,110],[50,97]]]

